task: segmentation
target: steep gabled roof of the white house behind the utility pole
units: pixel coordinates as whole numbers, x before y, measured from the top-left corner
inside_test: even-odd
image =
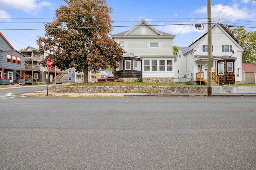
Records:
[[[241,47],[241,45],[240,45],[240,43],[238,42],[238,40],[236,40],[236,38],[235,38],[222,24],[219,24],[219,23],[218,23],[218,24],[215,24],[214,26],[212,26],[212,29],[213,29],[214,27],[216,27],[217,25],[221,26],[221,27],[224,29],[224,31],[226,31],[226,32],[230,35],[230,37],[231,37],[232,39],[234,39],[234,41],[237,42],[238,45]],[[198,44],[206,37],[207,34],[208,34],[208,32],[206,31],[204,34],[202,34],[202,36],[200,36],[199,38],[197,38],[196,40],[194,40],[192,43],[190,43],[190,45],[187,47],[186,51],[184,51],[184,53],[182,53],[182,54],[184,55],[184,54],[186,54],[186,53],[192,51],[192,50],[194,49],[194,47],[196,47],[196,45],[198,45]],[[241,47],[241,48],[242,48],[242,47]]]

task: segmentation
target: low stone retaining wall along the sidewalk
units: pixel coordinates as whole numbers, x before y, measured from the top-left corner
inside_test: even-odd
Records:
[[[55,93],[207,93],[197,86],[52,86]]]

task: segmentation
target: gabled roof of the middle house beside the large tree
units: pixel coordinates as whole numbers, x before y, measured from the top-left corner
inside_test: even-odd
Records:
[[[146,25],[148,28],[150,28],[152,31],[154,31],[156,33],[156,35],[142,35],[142,34],[138,34],[138,35],[129,35],[130,32],[132,32],[134,29],[136,29],[136,27],[138,26],[143,26]],[[154,27],[152,27],[150,24],[148,24],[148,22],[146,22],[145,20],[141,20],[138,24],[136,24],[136,26],[134,26],[132,29],[124,31],[124,32],[120,32],[118,34],[113,34],[111,37],[112,38],[118,38],[118,37],[163,37],[163,38],[174,38],[175,36],[172,34],[168,34],[166,32],[161,32],[156,30]]]

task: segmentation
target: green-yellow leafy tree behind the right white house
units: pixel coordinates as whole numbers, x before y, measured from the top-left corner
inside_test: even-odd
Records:
[[[244,27],[225,27],[244,48],[242,63],[256,63],[256,32],[246,32]]]

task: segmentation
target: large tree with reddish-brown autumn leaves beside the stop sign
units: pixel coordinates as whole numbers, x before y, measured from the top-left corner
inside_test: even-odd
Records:
[[[61,70],[75,67],[84,72],[118,67],[122,47],[110,37],[112,8],[104,0],[64,0],[52,23],[44,24],[44,37],[38,37],[39,50],[49,51],[53,65]],[[46,59],[42,65],[46,65]]]

